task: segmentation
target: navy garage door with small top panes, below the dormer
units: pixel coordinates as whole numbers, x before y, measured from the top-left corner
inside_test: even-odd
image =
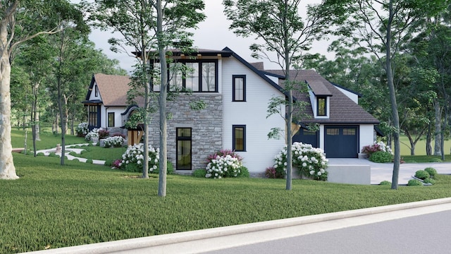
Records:
[[[325,126],[324,152],[328,158],[357,158],[358,126]]]

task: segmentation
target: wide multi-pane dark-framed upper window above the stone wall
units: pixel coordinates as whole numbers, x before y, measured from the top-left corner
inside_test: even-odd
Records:
[[[154,63],[159,70],[159,63]],[[216,60],[178,60],[168,63],[169,90],[190,90],[191,92],[218,92],[218,61]],[[155,80],[152,90],[159,92],[161,86]]]

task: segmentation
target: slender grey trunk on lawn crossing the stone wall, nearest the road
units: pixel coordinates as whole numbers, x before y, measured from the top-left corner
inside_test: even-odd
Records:
[[[159,161],[159,182],[158,195],[159,197],[166,197],[166,173],[168,165],[168,143],[167,143],[167,125],[166,125],[166,100],[168,97],[168,72],[166,66],[166,46],[163,36],[163,9],[161,8],[161,0],[157,1],[157,24],[156,36],[158,40],[159,59],[161,66],[161,89],[159,95],[160,108],[160,161]]]

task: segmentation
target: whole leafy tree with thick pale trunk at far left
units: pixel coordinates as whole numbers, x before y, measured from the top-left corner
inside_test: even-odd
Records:
[[[80,21],[82,15],[65,0],[1,1],[0,11],[0,179],[18,179],[11,147],[11,62],[21,43],[59,32],[65,28],[61,20]]]

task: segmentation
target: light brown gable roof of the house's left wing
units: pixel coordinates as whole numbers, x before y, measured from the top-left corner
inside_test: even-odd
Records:
[[[125,75],[94,74],[92,75],[89,90],[86,95],[86,101],[83,103],[89,103],[89,97],[94,89],[94,84],[97,84],[101,97],[100,101],[96,101],[97,103],[102,103],[105,107],[127,106],[127,91],[130,89],[128,86],[129,83],[130,77]]]

